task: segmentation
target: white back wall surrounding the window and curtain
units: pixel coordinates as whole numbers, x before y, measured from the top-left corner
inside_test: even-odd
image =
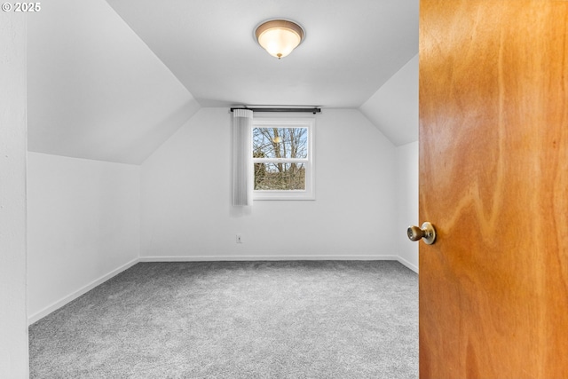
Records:
[[[395,148],[359,111],[315,116],[316,201],[249,211],[231,206],[231,117],[201,108],[142,165],[143,260],[396,258]]]

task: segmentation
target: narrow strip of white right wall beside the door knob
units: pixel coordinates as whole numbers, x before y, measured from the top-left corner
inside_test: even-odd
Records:
[[[418,244],[406,237],[408,225],[418,220],[418,141],[398,146],[396,160],[397,251],[402,263],[418,272]]]

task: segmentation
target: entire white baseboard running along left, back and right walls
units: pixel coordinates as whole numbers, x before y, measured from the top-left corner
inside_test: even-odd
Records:
[[[346,255],[346,256],[169,256],[169,257],[139,257],[132,259],[129,263],[118,267],[112,272],[101,276],[97,280],[91,281],[83,288],[79,288],[68,296],[46,306],[43,310],[28,316],[28,325],[43,319],[51,312],[61,308],[75,300],[77,297],[89,292],[92,288],[99,286],[106,280],[113,278],[115,275],[129,269],[138,262],[211,262],[211,261],[398,261],[410,270],[418,272],[418,267],[411,264],[401,257],[395,255]]]

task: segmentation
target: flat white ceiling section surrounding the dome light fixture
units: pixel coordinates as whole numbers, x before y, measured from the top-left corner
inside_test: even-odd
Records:
[[[107,0],[203,107],[359,107],[418,52],[417,0]],[[304,42],[284,59],[254,30],[284,18]]]

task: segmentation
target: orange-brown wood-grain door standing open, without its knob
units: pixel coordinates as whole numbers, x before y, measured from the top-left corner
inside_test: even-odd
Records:
[[[568,1],[422,0],[422,378],[568,378]]]

